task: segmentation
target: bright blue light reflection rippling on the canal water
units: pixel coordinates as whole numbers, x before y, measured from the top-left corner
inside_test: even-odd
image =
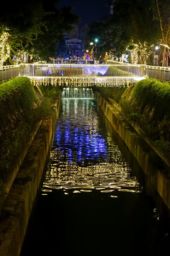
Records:
[[[101,159],[108,152],[106,140],[101,134],[92,127],[82,128],[69,121],[59,122],[55,136],[55,149],[61,149],[62,158],[69,162]]]

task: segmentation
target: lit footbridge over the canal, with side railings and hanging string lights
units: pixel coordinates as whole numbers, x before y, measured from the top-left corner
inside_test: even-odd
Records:
[[[170,68],[130,64],[21,64],[0,67],[0,82],[27,76],[34,85],[125,86],[146,77],[170,80]]]

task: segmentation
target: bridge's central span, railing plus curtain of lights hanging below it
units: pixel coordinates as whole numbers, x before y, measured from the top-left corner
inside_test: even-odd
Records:
[[[34,85],[74,87],[122,87],[145,78],[143,65],[25,64],[21,75],[30,78]]]

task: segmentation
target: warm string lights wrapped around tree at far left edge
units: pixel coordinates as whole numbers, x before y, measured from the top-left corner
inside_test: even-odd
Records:
[[[4,64],[4,62],[10,57],[10,46],[8,44],[8,39],[10,37],[10,34],[7,32],[8,29],[1,34],[0,37],[0,63],[1,65]]]

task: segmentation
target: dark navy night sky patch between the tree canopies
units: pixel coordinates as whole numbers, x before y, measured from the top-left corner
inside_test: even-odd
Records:
[[[110,13],[108,0],[60,0],[57,7],[74,6],[74,14],[81,16],[80,26],[97,21]]]

